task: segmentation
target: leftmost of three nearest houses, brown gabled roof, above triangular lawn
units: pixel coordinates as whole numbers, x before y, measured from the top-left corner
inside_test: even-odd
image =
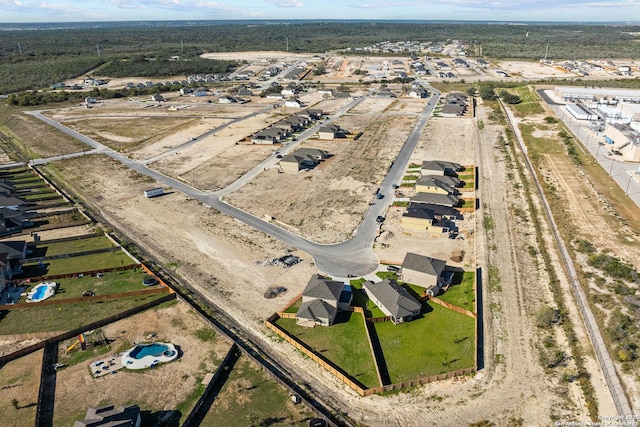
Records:
[[[302,292],[302,304],[296,313],[301,326],[331,326],[339,310],[347,310],[353,294],[351,286],[314,274]]]

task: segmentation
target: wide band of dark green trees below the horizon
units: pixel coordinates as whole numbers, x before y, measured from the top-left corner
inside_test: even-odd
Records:
[[[215,73],[218,71],[210,70],[218,70],[221,64],[202,71],[197,69],[202,65],[200,61],[207,63],[199,55],[284,51],[287,43],[293,52],[322,54],[384,40],[432,43],[459,40],[467,46],[470,56],[482,51],[488,58],[541,59],[547,45],[548,59],[637,58],[640,43],[634,34],[638,33],[637,25],[284,21],[281,25],[203,22],[172,26],[169,31],[160,25],[127,27],[122,23],[114,28],[0,31],[0,93],[47,87],[107,63],[106,70],[101,71],[118,76]],[[154,64],[142,62],[141,56],[155,58],[159,74],[152,74]],[[172,56],[179,56],[180,61],[168,61]]]

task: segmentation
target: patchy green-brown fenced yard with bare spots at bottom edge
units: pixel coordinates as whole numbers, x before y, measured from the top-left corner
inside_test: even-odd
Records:
[[[285,389],[241,357],[202,425],[302,426],[312,418],[314,414],[304,405],[294,406]]]

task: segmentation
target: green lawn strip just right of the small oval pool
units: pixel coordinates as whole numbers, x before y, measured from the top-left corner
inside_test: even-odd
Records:
[[[59,285],[58,291],[54,296],[49,298],[49,300],[78,298],[81,297],[82,292],[86,290],[92,290],[96,295],[109,295],[148,289],[149,287],[145,287],[142,284],[142,280],[146,275],[142,269],[135,268],[104,273],[102,277],[85,276],[56,279],[55,281]],[[24,300],[20,302],[24,302]]]

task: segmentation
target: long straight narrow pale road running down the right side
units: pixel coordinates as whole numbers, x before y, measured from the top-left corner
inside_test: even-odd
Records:
[[[500,100],[502,103],[502,100]],[[540,201],[542,202],[542,207],[549,221],[549,225],[551,227],[551,231],[553,232],[553,237],[558,247],[558,252],[562,258],[562,262],[565,266],[565,270],[569,276],[569,283],[571,284],[571,288],[573,289],[573,293],[576,297],[576,301],[578,302],[578,307],[580,308],[580,312],[582,314],[582,318],[584,320],[585,326],[587,327],[587,332],[589,333],[589,338],[591,339],[591,343],[595,350],[595,353],[598,358],[598,362],[600,362],[600,368],[602,369],[602,373],[607,381],[607,386],[609,387],[609,392],[611,393],[611,397],[613,398],[613,403],[616,406],[616,410],[618,411],[618,415],[632,415],[631,406],[629,405],[629,400],[624,393],[624,389],[622,388],[622,384],[620,382],[620,378],[618,377],[618,373],[616,372],[615,366],[613,365],[613,361],[611,360],[611,355],[607,350],[607,347],[604,343],[604,339],[602,338],[602,334],[600,333],[600,328],[598,327],[598,323],[589,307],[589,303],[587,301],[587,297],[580,285],[580,281],[578,280],[578,274],[576,273],[575,267],[573,266],[573,261],[569,256],[569,251],[564,244],[564,240],[560,236],[560,232],[558,231],[558,227],[553,218],[553,214],[551,213],[551,207],[547,201],[547,198],[544,195],[544,191],[542,190],[542,185],[540,185],[540,181],[533,169],[533,165],[529,160],[529,156],[527,155],[527,150],[524,144],[524,140],[522,138],[522,134],[520,133],[520,128],[517,125],[511,110],[502,106],[503,111],[506,112],[507,118],[509,119],[511,128],[516,136],[518,141],[518,145],[520,149],[524,153],[524,159],[527,164],[527,169],[529,170],[530,175],[533,178],[533,182],[536,185],[536,190],[538,192],[538,196],[540,197]],[[634,424],[635,425],[635,424]]]

